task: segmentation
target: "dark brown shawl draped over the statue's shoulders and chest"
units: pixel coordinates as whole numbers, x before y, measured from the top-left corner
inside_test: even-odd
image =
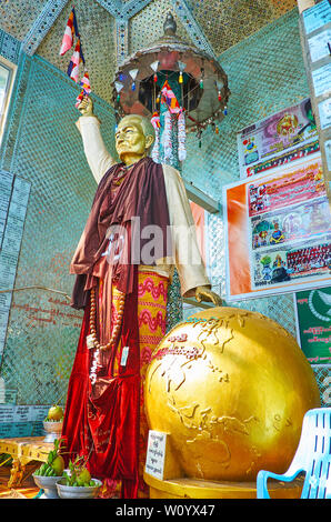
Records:
[[[70,273],[77,274],[71,300],[73,308],[86,307],[87,274],[92,272],[99,258],[109,251],[110,237],[126,237],[122,255],[116,259],[116,249],[112,249],[112,254],[107,257],[118,289],[124,293],[132,292],[134,264],[152,265],[158,259],[172,257],[171,241],[167,241],[169,211],[162,165],[154,163],[151,158],[141,159],[130,168],[113,193],[112,184],[123,168],[122,163],[111,167],[97,189],[90,215],[70,265]],[[140,233],[132,227],[134,223],[139,223]],[[144,263],[141,252],[151,239],[143,240],[141,232],[144,227],[151,224],[160,228],[162,244],[158,244],[154,259]],[[112,231],[116,231],[116,234],[112,234]]]

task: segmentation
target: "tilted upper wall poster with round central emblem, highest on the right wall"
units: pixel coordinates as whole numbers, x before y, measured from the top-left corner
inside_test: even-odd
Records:
[[[241,179],[318,152],[310,99],[242,129],[237,134],[237,143]]]

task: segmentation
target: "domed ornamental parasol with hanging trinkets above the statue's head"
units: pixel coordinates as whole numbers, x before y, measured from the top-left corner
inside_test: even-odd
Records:
[[[171,13],[163,30],[162,38],[137,51],[116,71],[112,87],[118,117],[133,113],[151,119],[169,82],[185,114],[187,131],[220,122],[230,96],[225,72],[214,58],[175,34]]]

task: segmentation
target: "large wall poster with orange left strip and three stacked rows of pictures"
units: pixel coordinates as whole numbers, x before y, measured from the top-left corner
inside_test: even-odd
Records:
[[[331,285],[331,214],[320,153],[223,189],[227,299]]]

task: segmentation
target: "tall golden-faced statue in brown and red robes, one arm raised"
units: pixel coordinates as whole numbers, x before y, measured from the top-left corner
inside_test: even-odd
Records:
[[[221,299],[210,289],[179,172],[148,155],[154,140],[150,121],[136,114],[120,121],[121,162],[116,163],[91,99],[84,98],[79,110],[77,126],[98,189],[70,265],[76,274],[71,305],[84,309],[84,315],[62,436],[69,455],[84,455],[104,490],[142,498],[148,495],[144,374],[165,334],[174,265],[182,295],[217,305]]]

